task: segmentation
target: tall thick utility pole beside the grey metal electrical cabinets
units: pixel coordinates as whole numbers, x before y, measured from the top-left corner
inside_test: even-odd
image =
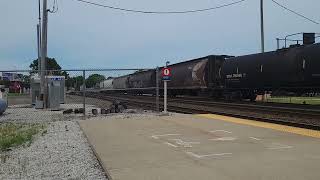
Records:
[[[48,28],[48,9],[47,0],[43,0],[42,18],[42,38],[41,38],[41,75],[40,75],[40,100],[43,108],[47,108],[48,90],[46,85],[46,58],[47,58],[47,28]]]

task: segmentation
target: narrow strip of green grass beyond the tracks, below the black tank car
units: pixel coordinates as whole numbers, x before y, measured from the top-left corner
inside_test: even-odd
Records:
[[[320,97],[270,97],[267,102],[320,105]]]

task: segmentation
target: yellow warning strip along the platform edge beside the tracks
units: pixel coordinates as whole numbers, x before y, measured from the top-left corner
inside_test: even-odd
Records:
[[[285,126],[280,124],[272,124],[272,123],[260,122],[260,121],[252,121],[247,119],[234,118],[234,117],[228,117],[228,116],[222,116],[222,115],[216,115],[216,114],[199,114],[197,116],[216,119],[216,120],[222,120],[222,121],[227,121],[227,122],[232,122],[237,124],[268,128],[268,129],[273,129],[273,130],[282,131],[282,132],[299,134],[303,136],[320,138],[320,131],[316,131],[316,130],[303,129],[303,128]]]

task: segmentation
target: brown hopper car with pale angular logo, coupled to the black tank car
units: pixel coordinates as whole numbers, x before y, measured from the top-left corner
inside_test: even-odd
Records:
[[[171,80],[168,82],[170,95],[200,95],[221,89],[221,66],[231,56],[210,55],[168,66],[171,68]],[[159,76],[160,73],[159,73]],[[161,86],[163,87],[163,82]]]

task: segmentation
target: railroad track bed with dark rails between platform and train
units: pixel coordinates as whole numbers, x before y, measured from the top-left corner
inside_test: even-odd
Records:
[[[75,95],[82,95],[78,93]],[[87,97],[101,100],[125,102],[130,107],[156,109],[155,97],[108,95],[97,92],[86,94]],[[161,99],[160,99],[161,100]],[[160,106],[163,105],[160,101]],[[283,124],[301,128],[320,130],[320,110],[245,103],[212,102],[196,99],[169,98],[168,109],[172,112],[186,114],[213,113],[238,118]]]

